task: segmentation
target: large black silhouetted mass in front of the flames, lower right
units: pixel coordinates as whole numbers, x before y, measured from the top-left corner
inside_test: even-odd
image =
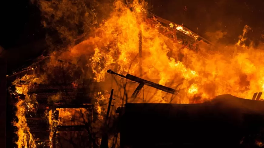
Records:
[[[220,95],[202,104],[136,104],[118,108],[120,147],[259,147],[264,102]]]

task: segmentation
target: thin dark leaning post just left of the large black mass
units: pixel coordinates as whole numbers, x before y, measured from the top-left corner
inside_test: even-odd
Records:
[[[110,113],[110,108],[111,108],[111,102],[113,100],[113,92],[114,90],[111,90],[111,94],[110,94],[110,99],[109,99],[109,104],[108,104],[108,108],[107,108],[107,113],[106,113],[106,118],[105,118],[105,127],[108,127],[108,118],[109,118],[109,113]],[[105,133],[102,136],[102,142],[101,142],[101,146],[100,148],[108,148],[108,133],[107,130],[105,130]]]

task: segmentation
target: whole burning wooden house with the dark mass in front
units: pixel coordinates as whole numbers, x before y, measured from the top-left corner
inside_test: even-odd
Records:
[[[225,59],[226,54],[198,51],[199,43],[205,43],[203,48],[212,43],[146,13],[139,3],[130,7],[133,11],[119,1],[115,7],[91,37],[67,51],[39,56],[14,73],[1,71],[1,95],[10,113],[7,129],[12,131],[7,147],[104,148],[109,133],[120,133],[120,147],[263,146],[263,95],[254,94],[264,91],[261,50],[235,46],[231,60]],[[113,81],[131,83],[132,92]],[[166,87],[170,83],[171,88]],[[119,115],[112,116],[115,128],[107,127],[113,105],[109,93],[98,87],[120,89],[110,97],[116,99],[114,107],[120,107]],[[158,99],[153,104],[144,100],[147,91]],[[219,96],[226,92],[239,98]],[[172,104],[166,94],[178,100]],[[252,95],[253,100],[242,99]]]

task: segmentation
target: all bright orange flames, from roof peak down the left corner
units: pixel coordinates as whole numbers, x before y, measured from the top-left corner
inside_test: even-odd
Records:
[[[47,5],[49,3],[41,3],[42,11],[52,12]],[[263,46],[259,48],[245,46],[248,26],[245,27],[235,45],[218,44],[208,47],[200,42],[197,44],[198,50],[195,51],[183,46],[181,41],[173,36],[173,31],[183,31],[193,38],[196,38],[195,35],[176,24],[170,24],[167,27],[159,23],[154,24],[153,22],[156,22],[154,19],[147,18],[145,4],[137,1],[129,5],[120,1],[115,2],[110,17],[102,21],[86,40],[70,47],[68,51],[54,52],[46,66],[52,69],[58,65],[68,67],[71,63],[82,69],[91,67],[93,79],[101,82],[103,90],[111,88],[120,90],[120,85],[113,84],[113,78],[107,74],[108,69],[120,74],[129,73],[178,90],[178,94],[172,96],[146,87],[145,95],[143,92],[137,100],[128,100],[130,102],[143,102],[144,97],[144,102],[148,103],[200,103],[221,94],[251,99],[255,92],[264,92],[264,48]],[[61,31],[62,28],[59,29]],[[139,33],[142,37],[141,59]],[[87,62],[81,65],[79,59],[82,56],[86,57]],[[58,60],[65,61],[65,64]],[[140,60],[142,76],[140,76]],[[88,78],[91,75],[84,73],[83,77]],[[37,79],[35,76],[24,81],[41,84],[44,78]],[[126,82],[122,79],[120,81],[123,84]],[[27,94],[28,87],[28,85],[17,87],[17,93],[26,96],[25,100],[19,100],[17,103],[16,115],[19,121],[15,125],[19,129],[18,148],[36,147],[25,119],[26,108],[31,108],[26,106],[32,103],[30,100],[32,96]],[[124,87],[125,91],[115,93],[115,97],[123,100],[124,92],[131,96],[136,87],[137,84],[129,83]],[[95,105],[102,119],[101,112],[105,110],[98,102],[107,99],[99,90],[97,94],[100,97],[96,99],[98,101],[95,101]],[[264,95],[261,99],[264,99]],[[65,116],[69,114],[67,111],[64,113]],[[53,125],[52,122],[50,121],[51,125]],[[51,133],[52,131],[51,129]]]

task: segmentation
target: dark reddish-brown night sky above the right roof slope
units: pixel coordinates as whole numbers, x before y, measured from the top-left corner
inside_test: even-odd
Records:
[[[249,39],[263,41],[263,0],[151,0],[151,5],[160,17],[184,24],[202,36],[208,31],[226,31],[223,42],[234,44],[244,26],[249,25]]]

